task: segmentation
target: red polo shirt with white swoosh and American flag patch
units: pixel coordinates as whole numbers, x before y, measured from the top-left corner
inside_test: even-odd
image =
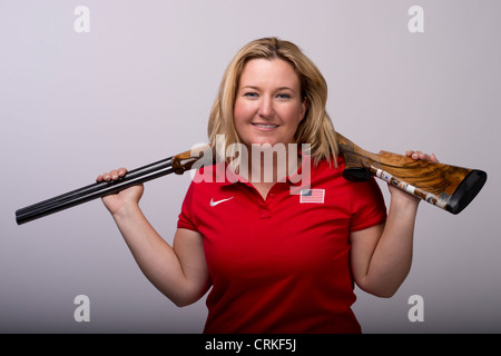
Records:
[[[347,181],[343,168],[342,158],[338,168],[322,160],[311,189],[292,195],[291,179],[266,199],[247,182],[195,177],[178,228],[204,238],[213,284],[205,333],[361,332],[348,236],[383,222],[386,208],[373,179]]]

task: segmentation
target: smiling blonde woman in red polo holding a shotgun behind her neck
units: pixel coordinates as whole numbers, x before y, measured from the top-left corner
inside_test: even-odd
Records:
[[[353,283],[390,297],[406,277],[419,200],[390,187],[386,214],[374,180],[342,178],[326,99],[322,73],[295,44],[253,41],[229,63],[208,123],[219,157],[217,136],[226,148],[247,148],[248,160],[223,180],[194,179],[173,246],[139,209],[143,186],[102,199],[140,269],[176,305],[212,288],[204,332],[360,333]],[[310,151],[289,144],[308,144]],[[283,158],[263,179],[256,146],[286,147],[289,166],[311,169],[308,189],[292,194],[298,184],[276,169]],[[235,157],[230,149],[223,154]],[[204,167],[198,175],[216,170]],[[121,168],[97,180],[125,174]]]

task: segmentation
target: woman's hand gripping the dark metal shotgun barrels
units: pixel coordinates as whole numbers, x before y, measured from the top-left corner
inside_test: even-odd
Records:
[[[101,181],[111,181],[111,180],[118,180],[119,178],[124,177],[127,174],[126,168],[119,168],[111,170],[109,172],[105,172],[102,175],[99,175],[96,178],[97,182]],[[124,207],[128,205],[138,205],[140,198],[143,197],[145,188],[141,185],[132,186],[127,189],[120,190],[117,194],[111,194],[108,196],[102,197],[102,202],[105,204],[106,208],[111,215],[117,214]]]

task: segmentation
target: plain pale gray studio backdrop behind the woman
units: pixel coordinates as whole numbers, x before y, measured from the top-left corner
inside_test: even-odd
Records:
[[[205,298],[178,308],[158,293],[99,200],[22,226],[14,210],[205,142],[224,69],[265,36],[317,63],[357,145],[489,174],[458,216],[421,204],[397,294],[356,289],[363,330],[501,332],[500,13],[489,0],[2,0],[0,332],[202,332]],[[169,243],[189,180],[146,185]]]

